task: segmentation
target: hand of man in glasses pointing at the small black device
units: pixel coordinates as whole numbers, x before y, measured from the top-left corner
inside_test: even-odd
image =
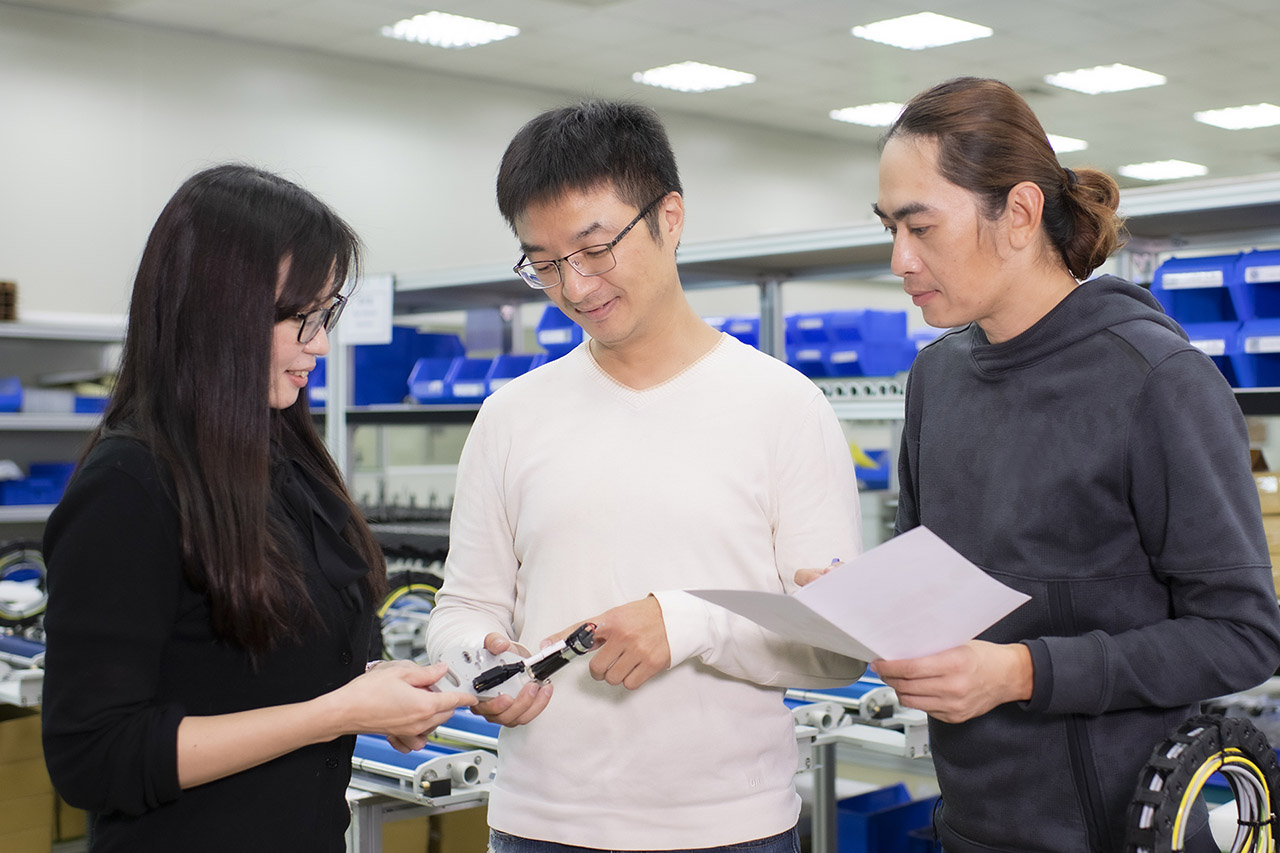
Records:
[[[653,596],[620,605],[584,621],[595,622],[595,652],[589,669],[596,681],[635,690],[671,666],[667,624],[662,619],[662,606]],[[576,622],[548,637],[544,644],[564,639],[580,625],[582,622]]]

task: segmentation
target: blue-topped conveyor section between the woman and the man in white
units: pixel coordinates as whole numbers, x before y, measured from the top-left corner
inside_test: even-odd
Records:
[[[387,738],[357,735],[351,757],[351,786],[424,806],[447,807],[485,800],[498,768],[486,749],[430,744],[402,753]]]

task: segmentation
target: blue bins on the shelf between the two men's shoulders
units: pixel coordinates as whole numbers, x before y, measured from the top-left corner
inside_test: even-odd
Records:
[[[791,314],[786,329],[787,362],[808,377],[892,377],[915,360],[906,311]]]

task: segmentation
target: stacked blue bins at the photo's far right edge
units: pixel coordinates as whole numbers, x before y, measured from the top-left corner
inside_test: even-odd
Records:
[[[1240,332],[1230,352],[1240,388],[1280,386],[1280,251],[1242,254],[1230,284]]]

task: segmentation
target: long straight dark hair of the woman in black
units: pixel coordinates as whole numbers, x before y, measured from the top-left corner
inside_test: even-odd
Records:
[[[287,277],[280,280],[282,261]],[[288,530],[269,512],[273,446],[351,510],[343,537],[369,562],[372,601],[387,573],[369,525],[316,434],[306,394],[269,406],[275,323],[335,295],[360,240],[306,190],[228,164],[192,175],[147,240],[119,375],[95,441],[125,433],[173,475],[183,571],[207,592],[215,633],[252,654],[314,615]]]

